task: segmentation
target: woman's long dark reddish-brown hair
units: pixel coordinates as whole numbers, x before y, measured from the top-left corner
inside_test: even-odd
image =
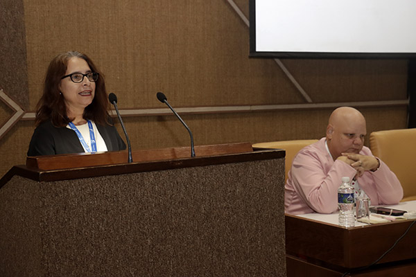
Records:
[[[85,60],[91,71],[99,74],[98,80],[95,82],[94,99],[91,104],[85,107],[83,117],[87,120],[93,120],[100,125],[111,125],[108,113],[110,102],[107,100],[103,73],[98,71],[94,62],[87,55],[77,51],[69,51],[56,56],[49,64],[48,71],[46,71],[43,95],[36,105],[36,126],[50,119],[54,126],[64,127],[73,120],[73,118],[68,118],[67,116],[67,107],[59,89],[61,78],[67,71],[67,64],[71,57],[79,57]]]

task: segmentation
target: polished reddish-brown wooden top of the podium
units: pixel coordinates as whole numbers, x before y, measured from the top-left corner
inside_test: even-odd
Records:
[[[127,162],[126,151],[28,157],[26,165],[14,166],[0,179],[0,188],[15,175],[35,181],[58,181],[279,159],[285,156],[284,150],[253,151],[251,143],[202,145],[196,146],[195,152],[196,157],[191,158],[190,147],[139,150],[132,153],[132,163]]]

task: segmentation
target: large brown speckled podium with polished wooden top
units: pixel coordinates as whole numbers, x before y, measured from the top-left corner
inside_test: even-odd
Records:
[[[0,179],[0,276],[286,276],[283,150],[29,157]]]

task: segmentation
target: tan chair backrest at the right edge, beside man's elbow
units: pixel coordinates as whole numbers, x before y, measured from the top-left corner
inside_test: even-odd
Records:
[[[372,132],[370,149],[395,172],[404,191],[401,201],[416,200],[416,129]]]

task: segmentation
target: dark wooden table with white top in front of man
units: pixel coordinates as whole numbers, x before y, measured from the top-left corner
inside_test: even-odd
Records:
[[[416,201],[387,207],[415,211]],[[354,273],[390,249],[414,220],[373,225],[358,222],[345,228],[338,226],[338,213],[285,217],[288,276],[342,276],[347,271],[352,271],[350,276],[414,276],[416,272],[413,226],[375,267]]]

